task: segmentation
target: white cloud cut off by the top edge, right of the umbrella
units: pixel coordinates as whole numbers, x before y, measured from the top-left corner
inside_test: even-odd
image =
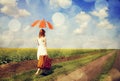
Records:
[[[50,0],[52,8],[69,8],[72,5],[72,0]]]

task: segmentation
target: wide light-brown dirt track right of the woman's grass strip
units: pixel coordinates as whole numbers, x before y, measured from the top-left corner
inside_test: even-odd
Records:
[[[115,52],[115,51],[114,51]],[[91,81],[102,71],[102,67],[114,52],[105,55],[68,75],[58,76],[56,81]]]

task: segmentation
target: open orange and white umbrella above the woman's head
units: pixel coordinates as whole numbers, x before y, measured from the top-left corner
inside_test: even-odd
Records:
[[[48,27],[49,29],[53,29],[52,24],[50,22],[48,22],[48,21],[45,21],[44,19],[34,21],[31,26],[32,27],[38,26],[39,28]]]

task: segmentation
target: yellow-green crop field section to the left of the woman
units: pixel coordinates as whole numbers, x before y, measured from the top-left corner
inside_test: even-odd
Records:
[[[36,59],[36,49],[0,48],[0,64]]]

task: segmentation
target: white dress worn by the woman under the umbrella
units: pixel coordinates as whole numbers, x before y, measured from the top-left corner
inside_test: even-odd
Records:
[[[38,41],[37,59],[39,60],[39,56],[47,55],[46,37],[37,38],[37,41]]]

